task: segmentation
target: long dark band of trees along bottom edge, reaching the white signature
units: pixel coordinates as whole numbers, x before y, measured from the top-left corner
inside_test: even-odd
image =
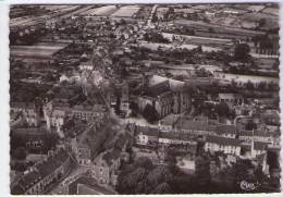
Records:
[[[269,180],[260,165],[253,165],[250,160],[238,160],[212,176],[210,161],[213,158],[217,159],[216,156],[199,153],[195,159],[194,174],[182,172],[172,158],[165,160],[167,165],[155,165],[146,157],[138,158],[133,164],[122,165],[116,190],[120,194],[246,193],[248,190],[243,190],[239,185],[246,181],[259,186],[248,193],[264,192],[261,185]]]

